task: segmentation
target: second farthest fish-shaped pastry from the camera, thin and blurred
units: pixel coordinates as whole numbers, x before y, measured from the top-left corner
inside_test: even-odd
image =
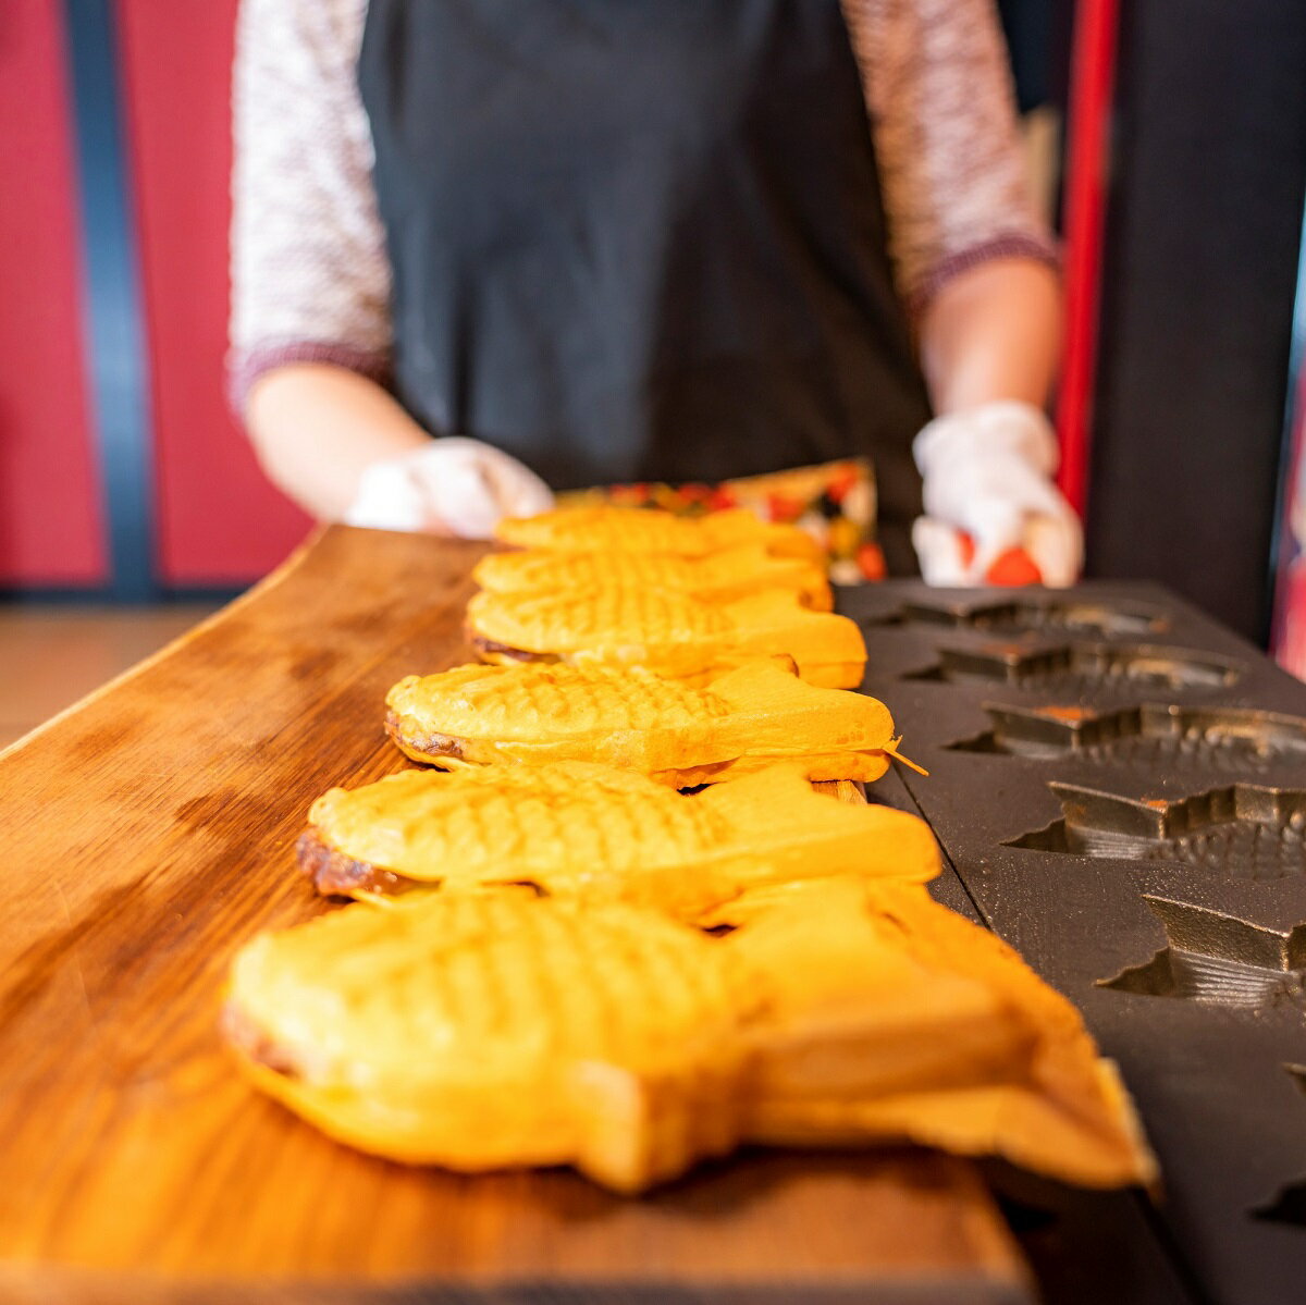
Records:
[[[746,545],[703,558],[666,553],[491,553],[471,577],[491,593],[560,593],[605,587],[674,589],[707,602],[734,602],[763,589],[797,593],[812,611],[835,606],[825,568],[806,558],[776,558]]]

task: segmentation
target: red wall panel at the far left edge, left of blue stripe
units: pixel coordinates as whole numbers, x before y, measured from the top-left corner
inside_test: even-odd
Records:
[[[0,584],[104,579],[63,5],[0,5]]]

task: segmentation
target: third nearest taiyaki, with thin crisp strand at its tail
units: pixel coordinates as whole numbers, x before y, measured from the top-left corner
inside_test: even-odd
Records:
[[[893,720],[866,694],[757,661],[703,688],[640,670],[522,662],[409,675],[385,728],[415,762],[457,768],[592,760],[687,788],[776,760],[810,780],[878,780]]]

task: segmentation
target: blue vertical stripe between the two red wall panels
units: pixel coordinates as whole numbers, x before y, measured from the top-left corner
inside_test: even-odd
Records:
[[[149,364],[112,0],[65,0],[86,268],[86,350],[104,517],[108,596],[158,596]]]

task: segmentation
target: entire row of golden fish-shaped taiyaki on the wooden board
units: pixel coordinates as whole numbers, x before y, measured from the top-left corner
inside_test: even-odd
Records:
[[[496,664],[387,699],[398,746],[440,769],[319,798],[300,866],[359,900],[236,958],[225,1023],[256,1084],[377,1155],[572,1164],[620,1191],[742,1142],[1155,1177],[1074,1007],[930,899],[927,826],[811,788],[878,777],[896,739],[883,704],[820,687],[855,683],[838,626],[726,620],[842,622],[814,610],[797,534],[505,523],[528,547],[482,563],[471,605]],[[549,647],[518,661],[532,622]]]

